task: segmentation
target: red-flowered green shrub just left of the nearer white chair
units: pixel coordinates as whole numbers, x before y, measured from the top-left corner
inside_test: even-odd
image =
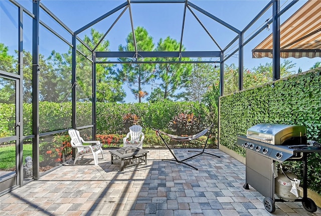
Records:
[[[47,165],[52,163],[63,163],[72,157],[72,147],[68,135],[57,135],[52,142],[42,142],[39,148],[43,162]]]

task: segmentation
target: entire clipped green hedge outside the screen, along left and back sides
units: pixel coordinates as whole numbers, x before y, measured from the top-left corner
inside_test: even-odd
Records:
[[[24,136],[32,135],[32,104],[23,104]],[[77,102],[77,127],[92,124],[92,103]],[[169,122],[180,113],[191,114],[200,118],[201,123],[209,126],[209,110],[199,102],[157,103],[97,103],[97,134],[124,134],[122,117],[125,114],[136,114],[139,124],[147,129],[168,130]],[[12,136],[15,129],[15,106],[0,103],[0,135]],[[51,132],[71,128],[71,102],[39,102],[39,132]]]

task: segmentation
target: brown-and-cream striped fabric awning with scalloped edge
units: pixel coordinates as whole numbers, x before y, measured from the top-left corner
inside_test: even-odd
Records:
[[[270,34],[252,50],[252,58],[272,58]],[[280,26],[281,58],[321,57],[321,1],[309,0]]]

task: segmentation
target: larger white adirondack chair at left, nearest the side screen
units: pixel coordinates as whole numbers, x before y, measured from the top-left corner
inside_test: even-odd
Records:
[[[68,134],[71,138],[71,146],[76,149],[76,156],[74,164],[76,163],[76,160],[81,157],[81,159],[84,158],[85,155],[91,154],[94,157],[94,163],[95,165],[98,164],[98,154],[101,153],[102,159],[104,159],[104,153],[102,152],[101,144],[99,141],[84,141],[80,137],[79,131],[75,129],[70,129],[68,131]],[[83,145],[84,143],[87,143],[89,145]],[[95,144],[95,145],[90,145]]]

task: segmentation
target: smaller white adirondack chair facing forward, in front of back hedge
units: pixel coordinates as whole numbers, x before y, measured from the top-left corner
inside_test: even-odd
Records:
[[[127,140],[129,139],[130,140]],[[129,133],[123,138],[124,147],[137,147],[142,149],[142,141],[144,140],[144,133],[140,125],[133,125],[129,128]]]

